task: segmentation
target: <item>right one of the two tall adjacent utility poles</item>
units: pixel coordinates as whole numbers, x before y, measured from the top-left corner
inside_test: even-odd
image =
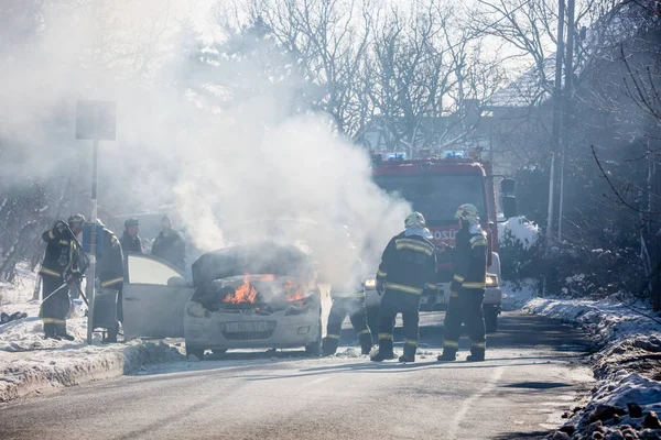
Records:
[[[564,121],[562,136],[562,152],[560,164],[560,208],[557,211],[557,238],[562,239],[562,218],[564,213],[564,174],[565,155],[570,146],[570,125],[572,123],[572,98],[574,95],[574,6],[575,0],[567,0],[567,48],[565,54],[565,92],[564,92]]]

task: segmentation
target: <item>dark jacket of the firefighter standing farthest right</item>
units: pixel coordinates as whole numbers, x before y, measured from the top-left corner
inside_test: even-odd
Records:
[[[449,289],[486,289],[487,234],[479,226],[462,228],[453,253],[453,278]]]

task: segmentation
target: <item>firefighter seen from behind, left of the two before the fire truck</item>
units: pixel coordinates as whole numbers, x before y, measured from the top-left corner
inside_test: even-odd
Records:
[[[379,349],[375,362],[394,359],[394,318],[402,314],[404,354],[400,362],[414,362],[418,351],[420,298],[425,289],[436,289],[436,254],[420,212],[409,215],[405,229],[390,240],[377,273],[377,292],[383,295],[379,311]]]

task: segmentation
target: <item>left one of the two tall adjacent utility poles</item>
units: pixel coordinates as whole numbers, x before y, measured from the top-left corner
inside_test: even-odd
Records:
[[[557,50],[555,52],[555,86],[553,88],[553,139],[551,141],[551,175],[549,176],[549,217],[546,218],[546,245],[553,239],[553,208],[555,201],[555,158],[560,150],[560,118],[562,106],[562,56],[564,54],[565,2],[557,2]]]

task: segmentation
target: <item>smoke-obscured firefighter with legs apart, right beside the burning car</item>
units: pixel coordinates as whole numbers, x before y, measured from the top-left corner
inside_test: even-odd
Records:
[[[333,307],[328,316],[326,338],[322,346],[324,356],[335,354],[339,343],[339,331],[347,315],[351,326],[358,333],[360,351],[369,354],[372,349],[371,330],[367,324],[367,311],[365,310],[365,286],[362,283],[354,283],[349,286],[335,286],[330,288]]]

